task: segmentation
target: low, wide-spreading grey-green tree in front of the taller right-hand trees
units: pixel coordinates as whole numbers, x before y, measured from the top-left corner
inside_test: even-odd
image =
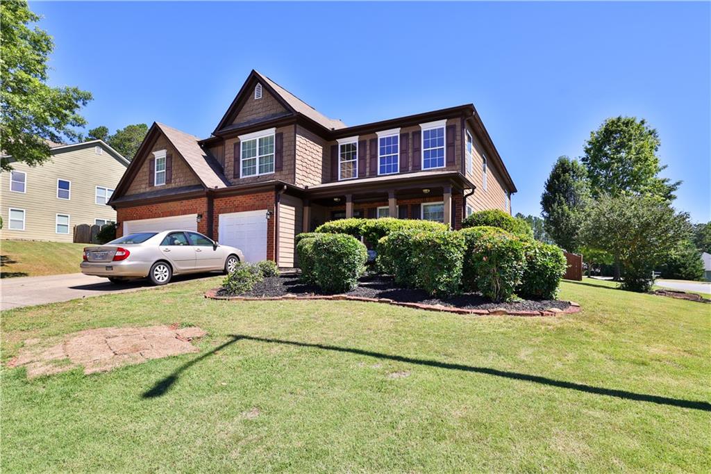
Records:
[[[589,206],[584,244],[621,263],[622,288],[648,291],[652,272],[690,236],[689,216],[656,196],[601,196]]]

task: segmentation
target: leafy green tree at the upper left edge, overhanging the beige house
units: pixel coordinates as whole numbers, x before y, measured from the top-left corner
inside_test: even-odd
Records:
[[[26,1],[0,2],[0,149],[31,166],[50,157],[43,139],[63,142],[78,139],[74,127],[83,127],[81,107],[92,99],[75,87],[47,85],[52,38],[37,26],[40,18]],[[7,159],[0,169],[11,169]]]

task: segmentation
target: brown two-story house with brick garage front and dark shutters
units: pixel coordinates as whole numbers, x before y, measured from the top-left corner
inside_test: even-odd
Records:
[[[109,202],[118,232],[196,229],[294,265],[294,235],[351,216],[461,226],[516,191],[474,105],[347,127],[252,70],[213,135],[154,123]]]

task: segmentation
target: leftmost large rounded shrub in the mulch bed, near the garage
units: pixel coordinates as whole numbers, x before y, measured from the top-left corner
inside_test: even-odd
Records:
[[[313,275],[316,285],[326,293],[353,290],[365,271],[368,251],[353,236],[324,234],[307,238],[299,245],[312,243]]]

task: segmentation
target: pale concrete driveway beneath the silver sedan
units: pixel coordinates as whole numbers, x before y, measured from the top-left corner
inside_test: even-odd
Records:
[[[169,285],[185,281],[210,278],[218,273],[176,276]],[[154,287],[147,280],[127,283],[109,283],[106,278],[87,276],[82,273],[50,275],[42,277],[3,278],[0,280],[0,310],[15,307],[44,305],[50,302],[75,300],[111,293],[128,293]]]

